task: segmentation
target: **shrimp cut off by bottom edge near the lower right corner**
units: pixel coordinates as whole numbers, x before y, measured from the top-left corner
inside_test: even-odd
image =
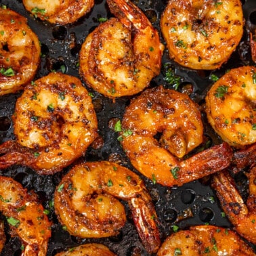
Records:
[[[171,234],[157,256],[173,255],[229,255],[253,256],[255,253],[232,230],[217,226],[194,226]]]

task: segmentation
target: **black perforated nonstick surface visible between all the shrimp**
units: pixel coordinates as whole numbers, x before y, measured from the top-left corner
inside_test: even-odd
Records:
[[[134,3],[144,11],[152,24],[156,28],[159,28],[161,13],[167,1],[136,0]],[[35,79],[48,74],[51,70],[63,70],[63,66],[67,74],[79,77],[77,64],[81,44],[88,33],[99,25],[98,18],[110,18],[110,16],[112,16],[106,2],[96,0],[95,6],[91,12],[84,18],[81,18],[79,22],[68,26],[58,26],[36,20],[30,16],[24,9],[21,0],[3,0],[0,1],[0,4],[7,5],[10,9],[28,18],[30,28],[37,33],[41,41],[41,68],[37,72]],[[190,96],[201,106],[204,104],[205,93],[213,84],[213,81],[210,79],[211,74],[216,74],[220,77],[221,74],[224,74],[229,68],[249,64],[255,65],[251,60],[249,31],[253,31],[256,27],[256,1],[244,0],[242,4],[244,18],[246,20],[244,36],[236,52],[232,54],[230,60],[219,70],[194,71],[182,68],[172,62],[165,51],[163,66],[167,64],[167,68],[173,68],[175,74],[180,77],[181,85],[178,90],[186,91],[192,88],[193,91]],[[74,47],[70,48],[70,43],[72,42],[75,44]],[[166,87],[173,88],[173,85],[169,85],[167,81],[165,81],[165,71],[166,67],[163,67],[161,74],[153,79],[151,86],[165,85]],[[85,87],[87,87],[87,85],[85,85]],[[119,98],[116,99],[115,102],[112,102],[112,100],[105,98],[90,88],[87,87],[87,89],[94,95],[93,104],[98,115],[100,139],[95,142],[94,146],[88,148],[82,160],[115,161],[137,172],[131,167],[129,159],[125,156],[117,140],[118,134],[112,129],[112,124],[122,118],[125,106],[129,104],[129,100],[134,96]],[[0,98],[0,143],[14,139],[11,116],[14,112],[16,99],[20,96],[20,93],[4,95]],[[204,114],[202,114],[202,118],[204,121],[206,120]],[[206,121],[205,136],[208,137],[213,144],[221,142]],[[51,206],[51,202],[56,186],[58,186],[61,178],[69,168],[70,167],[55,175],[38,175],[33,169],[20,166],[14,166],[7,170],[0,171],[0,175],[13,177],[28,190],[35,190],[43,206],[50,210],[49,219],[53,221],[53,226],[47,255],[55,255],[60,251],[87,242],[100,242],[105,244],[110,250],[116,253],[116,255],[148,255],[140,242],[128,208],[127,223],[123,230],[121,230],[119,236],[102,239],[82,239],[70,236],[70,234],[62,228],[54,213],[54,207]],[[159,228],[161,230],[162,240],[165,240],[165,238],[173,232],[173,225],[179,226],[179,229],[186,229],[189,226],[209,223],[211,225],[232,228],[230,222],[223,216],[222,210],[218,205],[217,197],[210,188],[207,178],[184,184],[184,186],[179,188],[167,188],[158,184],[154,185],[145,177],[142,178],[145,180],[146,186],[154,200],[156,212],[160,220]],[[247,179],[244,175],[239,174],[236,176],[236,180],[238,181],[242,195],[246,198]],[[127,205],[125,206],[127,207]],[[1,217],[4,219],[3,216]],[[7,241],[1,255],[20,255],[20,239],[13,238],[9,235],[9,227],[7,225],[5,225],[5,231]],[[253,245],[251,244],[251,246]]]

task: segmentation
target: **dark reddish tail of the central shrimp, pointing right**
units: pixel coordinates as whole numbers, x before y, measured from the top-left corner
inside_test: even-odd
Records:
[[[181,162],[184,172],[181,173],[182,177],[179,178],[179,181],[182,182],[184,179],[182,182],[184,184],[186,179],[190,179],[190,181],[199,179],[225,169],[230,165],[232,156],[232,148],[226,142],[203,150]]]

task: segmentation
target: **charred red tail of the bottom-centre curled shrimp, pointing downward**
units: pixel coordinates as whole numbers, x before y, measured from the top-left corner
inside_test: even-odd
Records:
[[[146,195],[146,193],[144,193]],[[146,198],[146,199],[145,199]],[[133,221],[138,234],[148,253],[158,251],[161,240],[157,227],[157,215],[154,206],[148,196],[132,198],[129,207],[133,215]]]

